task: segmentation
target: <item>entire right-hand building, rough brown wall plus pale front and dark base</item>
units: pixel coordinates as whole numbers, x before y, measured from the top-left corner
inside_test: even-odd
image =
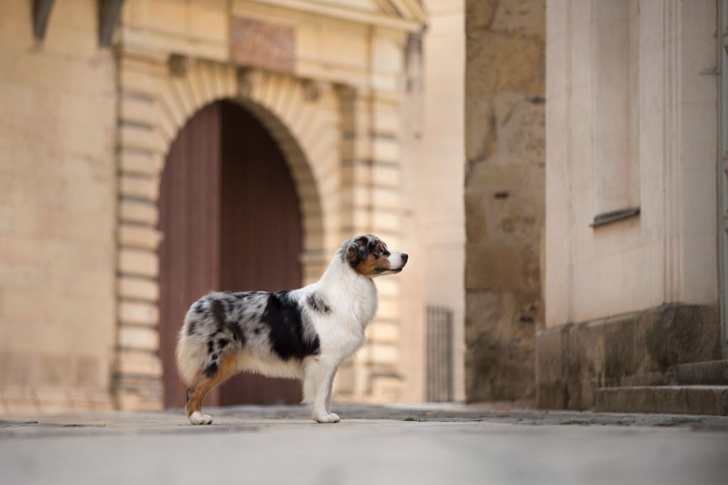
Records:
[[[468,2],[470,400],[728,413],[727,12]]]

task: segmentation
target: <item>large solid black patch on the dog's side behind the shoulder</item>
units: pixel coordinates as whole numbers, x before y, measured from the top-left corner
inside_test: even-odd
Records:
[[[261,323],[269,328],[269,339],[273,351],[283,360],[303,359],[306,355],[318,354],[321,350],[318,335],[306,339],[306,328],[298,302],[288,296],[288,291],[269,293]],[[312,333],[312,329],[309,329]]]

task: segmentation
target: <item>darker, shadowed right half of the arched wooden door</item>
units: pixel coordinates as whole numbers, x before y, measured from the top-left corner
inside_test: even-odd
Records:
[[[301,285],[301,217],[293,178],[277,143],[251,114],[222,105],[221,288],[276,291]],[[293,379],[239,374],[220,404],[294,404]]]

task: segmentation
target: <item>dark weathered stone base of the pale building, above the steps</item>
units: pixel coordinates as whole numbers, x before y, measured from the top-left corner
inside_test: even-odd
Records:
[[[716,305],[667,304],[536,336],[536,405],[591,409],[598,387],[721,358]],[[658,382],[659,383],[659,382]]]

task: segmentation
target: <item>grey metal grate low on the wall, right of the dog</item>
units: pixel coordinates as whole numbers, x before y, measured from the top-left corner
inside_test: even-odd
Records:
[[[453,311],[427,306],[427,401],[453,400]]]

